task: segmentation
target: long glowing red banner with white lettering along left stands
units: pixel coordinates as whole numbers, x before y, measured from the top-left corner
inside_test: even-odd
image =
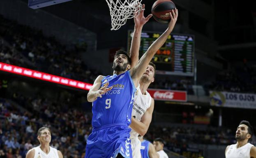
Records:
[[[69,78],[63,78],[60,76],[55,76],[55,75],[51,75],[48,73],[43,73],[43,72],[31,70],[31,69],[26,69],[26,68],[19,67],[19,66],[5,64],[2,62],[0,62],[0,71],[16,73],[18,75],[28,76],[30,78],[45,80],[48,82],[58,83],[61,85],[66,85],[66,86],[75,87],[75,88],[79,88],[79,89],[89,90],[92,87],[92,84],[90,84],[90,83],[85,83],[85,82],[81,82],[81,81],[77,81],[77,80],[71,80]]]

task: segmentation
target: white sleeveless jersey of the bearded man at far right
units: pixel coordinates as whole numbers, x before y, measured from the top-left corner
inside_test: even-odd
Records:
[[[228,147],[226,151],[226,158],[250,158],[251,147],[253,144],[247,143],[240,148],[236,148],[237,144],[232,144]]]

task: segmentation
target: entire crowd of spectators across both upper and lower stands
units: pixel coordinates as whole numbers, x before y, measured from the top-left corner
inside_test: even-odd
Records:
[[[0,16],[0,62],[92,83],[98,73],[80,59],[78,49],[71,52],[54,38],[45,37],[41,31]],[[242,69],[222,71],[216,82],[205,85],[205,89],[255,92],[255,85],[256,69],[244,63]],[[184,90],[194,94],[191,81],[185,79],[156,78],[150,88]],[[16,103],[25,110],[18,109]],[[83,158],[86,140],[92,130],[91,119],[90,111],[46,98],[17,95],[12,101],[0,98],[0,158],[25,158],[28,150],[39,144],[37,130],[42,126],[51,129],[51,145],[62,151],[64,158]],[[226,128],[150,126],[145,138],[152,141],[156,137],[162,137],[165,147],[171,151],[192,143],[235,143],[234,133]],[[256,144],[256,140],[253,141]]]

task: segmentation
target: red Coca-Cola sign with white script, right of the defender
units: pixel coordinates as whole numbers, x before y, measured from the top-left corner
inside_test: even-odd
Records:
[[[186,91],[174,91],[165,89],[148,89],[147,91],[155,100],[187,102]]]

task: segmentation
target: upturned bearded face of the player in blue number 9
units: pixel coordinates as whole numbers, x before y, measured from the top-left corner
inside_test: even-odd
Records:
[[[125,55],[119,54],[115,56],[115,60],[113,62],[113,69],[115,71],[125,71],[128,66],[128,59]]]

